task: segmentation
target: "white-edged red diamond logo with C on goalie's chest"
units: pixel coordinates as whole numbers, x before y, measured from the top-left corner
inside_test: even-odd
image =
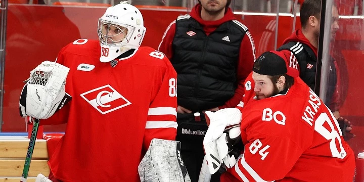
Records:
[[[80,96],[101,114],[107,114],[131,104],[109,84],[89,90]]]

